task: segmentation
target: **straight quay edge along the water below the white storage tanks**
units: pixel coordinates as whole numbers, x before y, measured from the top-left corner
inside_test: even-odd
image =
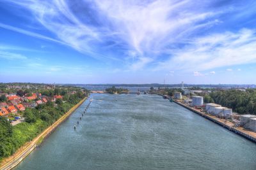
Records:
[[[191,108],[190,106],[188,106],[184,103],[181,103],[180,101],[173,100],[173,102],[179,104],[180,106],[183,106],[184,108],[187,108],[188,110],[191,110],[191,111],[197,113],[198,115],[200,115],[202,117],[207,118],[208,120],[211,120],[212,122],[214,122],[218,125],[225,127],[229,131],[235,132],[236,134],[239,134],[240,136],[243,136],[244,138],[249,139],[250,141],[253,141],[254,143],[256,143],[256,132],[249,131],[247,129],[244,129],[243,127],[234,127],[235,124],[232,122],[229,122],[225,119],[221,119],[218,117],[214,117],[214,116],[204,113],[200,110],[196,110],[195,108]]]

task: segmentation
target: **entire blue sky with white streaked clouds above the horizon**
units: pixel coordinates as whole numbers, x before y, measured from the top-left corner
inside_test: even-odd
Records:
[[[0,82],[256,83],[256,1],[1,0]]]

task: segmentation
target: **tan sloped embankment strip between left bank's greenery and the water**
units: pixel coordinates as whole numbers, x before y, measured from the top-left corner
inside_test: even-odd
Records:
[[[47,137],[51,132],[58,127],[62,122],[64,122],[72,113],[75,111],[85,100],[87,97],[84,97],[79,103],[77,103],[73,108],[71,108],[65,115],[59,118],[54,124],[45,129],[41,134],[39,134],[35,139],[26,143],[24,146],[20,147],[17,152],[15,152],[12,156],[4,159],[1,162],[0,169],[8,170],[17,166],[29,153],[31,153],[36,146],[40,145],[45,137]]]

